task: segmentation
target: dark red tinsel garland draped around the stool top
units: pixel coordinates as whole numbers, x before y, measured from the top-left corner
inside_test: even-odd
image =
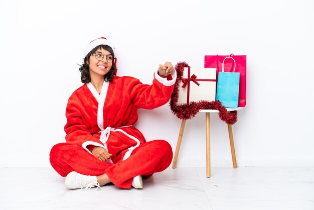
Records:
[[[170,99],[170,108],[173,114],[175,114],[181,120],[192,119],[200,110],[218,110],[220,120],[227,124],[233,125],[237,122],[237,111],[227,112],[227,109],[222,106],[220,101],[190,101],[188,103],[178,104],[179,97],[179,82],[182,79],[184,67],[190,67],[186,62],[179,62],[175,66],[177,70],[177,80],[175,83],[174,91]]]

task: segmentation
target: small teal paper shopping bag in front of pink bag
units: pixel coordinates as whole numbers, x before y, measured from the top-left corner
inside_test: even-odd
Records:
[[[226,108],[237,108],[239,102],[239,85],[240,85],[240,72],[235,71],[235,60],[233,72],[224,72],[224,62],[222,62],[222,71],[218,72],[217,80],[217,93],[216,100],[219,100]]]

